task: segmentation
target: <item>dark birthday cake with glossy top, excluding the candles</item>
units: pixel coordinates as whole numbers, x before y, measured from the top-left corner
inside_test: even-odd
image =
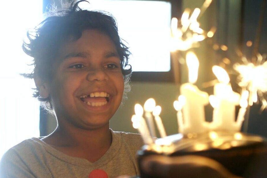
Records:
[[[189,134],[186,137],[175,134],[156,139],[154,144],[144,145],[138,152],[138,162],[141,165],[142,159],[149,155],[179,157],[192,154],[212,158],[236,176],[266,176],[267,142],[265,138],[240,132],[212,131]],[[141,178],[158,178],[155,175],[146,174],[141,166],[140,173]]]

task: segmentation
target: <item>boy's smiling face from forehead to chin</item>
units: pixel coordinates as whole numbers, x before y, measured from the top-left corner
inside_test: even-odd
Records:
[[[124,91],[120,58],[110,37],[85,30],[77,41],[63,46],[54,67],[46,88],[59,124],[108,126]]]

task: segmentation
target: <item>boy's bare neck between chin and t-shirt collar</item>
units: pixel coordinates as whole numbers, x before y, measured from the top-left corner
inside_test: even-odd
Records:
[[[42,139],[56,150],[72,157],[84,158],[90,162],[100,159],[112,143],[109,126],[96,130],[62,129],[57,127],[49,136]]]

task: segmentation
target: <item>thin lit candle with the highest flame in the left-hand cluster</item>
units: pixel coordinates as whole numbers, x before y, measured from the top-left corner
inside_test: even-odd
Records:
[[[144,104],[145,118],[147,119],[148,129],[151,137],[156,137],[155,126],[153,122],[152,111],[156,106],[156,102],[153,98],[149,98]]]

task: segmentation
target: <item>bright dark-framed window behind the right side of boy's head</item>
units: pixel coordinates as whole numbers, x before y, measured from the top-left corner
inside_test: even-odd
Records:
[[[80,7],[111,13],[118,22],[119,35],[132,55],[133,81],[173,80],[171,72],[170,21],[171,1],[90,0]]]

